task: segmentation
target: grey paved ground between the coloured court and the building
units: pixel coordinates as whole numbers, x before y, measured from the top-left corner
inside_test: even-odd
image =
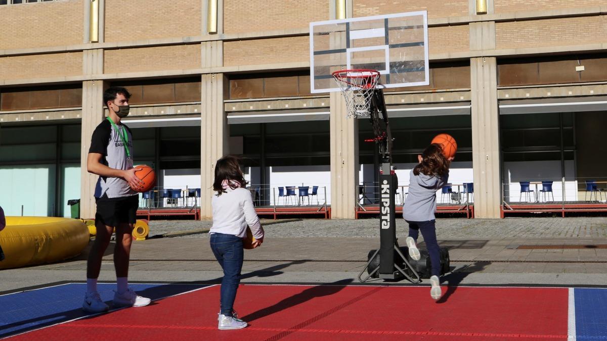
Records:
[[[243,282],[331,283],[358,276],[379,245],[378,220],[263,221],[266,241],[245,252]],[[131,281],[217,281],[222,273],[208,245],[209,221],[151,221],[150,235],[183,237],[134,242]],[[439,243],[450,248],[452,285],[607,283],[607,218],[440,219]],[[398,220],[398,237],[407,234]],[[553,245],[546,249],[541,246]],[[605,247],[605,248],[603,248]],[[100,280],[114,281],[106,252]],[[87,251],[66,262],[0,272],[0,291],[84,280]],[[404,283],[401,281],[400,283]]]

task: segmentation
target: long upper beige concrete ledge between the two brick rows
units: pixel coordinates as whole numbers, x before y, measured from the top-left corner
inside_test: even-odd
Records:
[[[450,16],[428,20],[430,27],[446,25],[465,25],[481,21],[517,21],[546,18],[565,18],[571,16],[589,16],[607,14],[607,5],[601,7],[561,8],[556,10],[519,11],[487,15]],[[70,46],[36,47],[30,49],[0,49],[0,56],[31,55],[39,53],[72,52],[90,49],[121,49],[127,47],[163,46],[179,44],[197,44],[203,41],[234,41],[243,39],[276,38],[283,36],[304,36],[309,34],[308,27],[300,29],[271,30],[260,32],[240,32],[220,35],[183,36],[175,38],[142,39],[136,41],[100,42]]]

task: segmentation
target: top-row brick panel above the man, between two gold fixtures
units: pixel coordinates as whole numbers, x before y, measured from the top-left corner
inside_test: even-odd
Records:
[[[198,36],[201,0],[106,0],[105,41]]]

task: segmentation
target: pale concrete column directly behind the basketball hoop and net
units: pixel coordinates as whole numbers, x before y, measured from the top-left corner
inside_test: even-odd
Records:
[[[340,92],[331,92],[331,218],[353,219],[358,184],[358,119],[346,118]]]

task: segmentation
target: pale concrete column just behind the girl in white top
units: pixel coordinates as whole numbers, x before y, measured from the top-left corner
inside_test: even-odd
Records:
[[[200,217],[211,218],[212,185],[215,161],[229,153],[228,118],[223,111],[223,73],[202,75],[202,110],[200,126]]]

